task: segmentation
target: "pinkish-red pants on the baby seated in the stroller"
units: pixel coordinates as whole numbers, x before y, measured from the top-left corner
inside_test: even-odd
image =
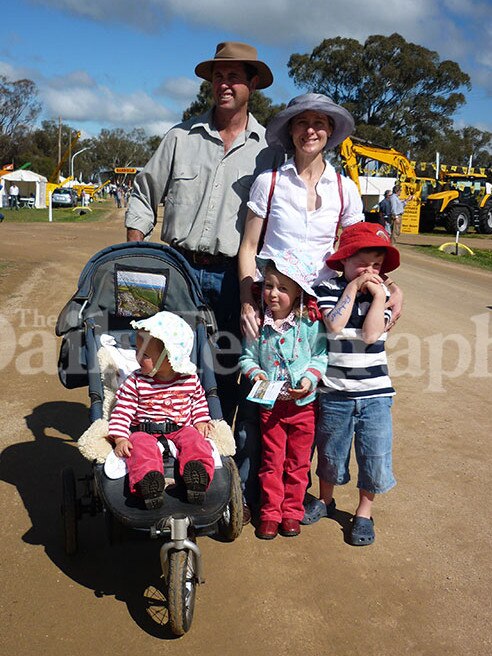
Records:
[[[164,473],[162,453],[157,446],[160,435],[149,435],[143,431],[131,433],[128,438],[133,445],[130,457],[126,460],[128,467],[128,479],[130,492],[135,492],[135,484],[142,480],[149,471],[160,471]],[[179,473],[183,475],[183,469],[190,460],[200,460],[207,470],[212,481],[214,477],[214,458],[210,442],[193,426],[183,426],[174,433],[166,435],[170,442],[176,445]]]

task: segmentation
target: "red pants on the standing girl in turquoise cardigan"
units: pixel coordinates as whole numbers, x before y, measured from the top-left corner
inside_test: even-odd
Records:
[[[277,401],[261,410],[262,464],[260,518],[281,522],[304,517],[311,448],[316,423],[315,404],[298,406]]]

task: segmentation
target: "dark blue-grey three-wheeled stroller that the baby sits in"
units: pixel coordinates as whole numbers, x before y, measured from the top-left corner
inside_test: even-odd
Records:
[[[205,305],[197,281],[184,258],[157,243],[124,243],[96,253],[84,267],[75,295],[58,318],[62,336],[59,375],[65,387],[88,386],[90,419],[102,419],[104,384],[98,360],[102,336],[117,346],[129,347],[134,339],[130,320],[160,310],[179,314],[195,331],[192,355],[213,419],[221,419],[216,393],[210,337],[215,319]],[[107,417],[106,417],[107,418]],[[190,628],[196,585],[203,582],[201,552],[196,537],[218,534],[234,540],[242,530],[242,492],[235,463],[222,456],[203,507],[186,503],[184,486],[165,492],[161,508],[148,510],[143,500],[128,491],[127,476],[111,479],[103,464],[94,461],[92,474],[77,479],[73,469],[62,472],[62,518],[65,551],[78,547],[77,524],[83,514],[105,514],[110,541],[121,527],[144,532],[162,542],[160,560],[166,586],[171,630],[182,635]],[[165,472],[173,470],[167,459]],[[84,491],[77,496],[77,482]]]

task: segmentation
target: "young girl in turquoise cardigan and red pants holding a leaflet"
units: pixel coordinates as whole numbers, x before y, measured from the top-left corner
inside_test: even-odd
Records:
[[[262,408],[262,492],[256,536],[299,535],[315,427],[315,391],[327,365],[326,337],[310,283],[316,269],[292,251],[258,260],[264,316],[259,337],[245,342],[242,373],[252,382],[284,381],[275,404]],[[311,315],[311,318],[309,317]]]

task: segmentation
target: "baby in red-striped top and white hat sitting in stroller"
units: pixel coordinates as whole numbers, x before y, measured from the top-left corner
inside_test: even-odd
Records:
[[[115,455],[126,459],[130,493],[159,508],[164,469],[158,441],[174,443],[190,503],[203,504],[214,475],[205,391],[190,359],[193,331],[181,317],[158,312],[132,321],[140,369],[122,383],[109,421]]]

